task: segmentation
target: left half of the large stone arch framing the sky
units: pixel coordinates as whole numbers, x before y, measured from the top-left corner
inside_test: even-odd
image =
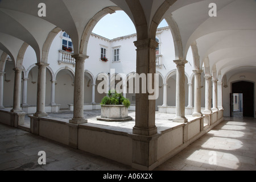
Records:
[[[102,9],[98,13],[96,13],[92,19],[86,24],[84,32],[82,32],[81,42],[80,42],[80,49],[79,53],[86,55],[87,53],[87,46],[90,38],[90,34],[92,33],[93,28],[96,26],[98,21],[103,18],[107,14],[113,14],[115,11],[122,10],[118,6],[110,6]]]

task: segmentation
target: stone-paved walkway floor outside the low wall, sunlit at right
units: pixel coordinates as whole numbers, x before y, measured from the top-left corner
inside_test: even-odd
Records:
[[[46,151],[46,165],[39,165]],[[0,124],[0,170],[131,171],[129,166]],[[155,170],[256,170],[256,119],[225,118]]]

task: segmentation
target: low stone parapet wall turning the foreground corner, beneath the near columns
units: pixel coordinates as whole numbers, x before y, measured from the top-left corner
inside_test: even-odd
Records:
[[[14,115],[18,114],[0,111],[0,122],[13,126]],[[187,123],[167,122],[166,126],[158,126],[158,133],[153,136],[135,135],[129,128],[94,123],[76,125],[68,119],[29,117],[33,134],[139,170],[152,170],[218,125],[223,120],[223,110],[188,118]],[[142,155],[146,151],[150,158]]]

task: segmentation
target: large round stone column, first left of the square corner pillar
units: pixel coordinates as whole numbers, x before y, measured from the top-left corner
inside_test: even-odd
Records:
[[[87,119],[84,118],[84,61],[89,56],[77,54],[73,55],[72,57],[76,59],[74,111],[73,118],[69,120],[69,122],[74,124],[80,124],[87,122]]]

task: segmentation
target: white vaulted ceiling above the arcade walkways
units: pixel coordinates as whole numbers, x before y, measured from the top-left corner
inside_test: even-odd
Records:
[[[38,15],[42,2],[46,4],[45,17]],[[209,16],[210,3],[217,5],[216,17]],[[137,31],[144,27],[145,35],[152,34],[152,24],[172,19],[168,24],[176,24],[171,29],[175,29],[172,34],[176,34],[180,54],[185,59],[191,44],[196,43],[200,67],[209,60],[205,65],[210,70],[216,67],[221,76],[237,73],[240,68],[256,71],[255,0],[1,0],[0,49],[15,61],[26,42],[41,61],[49,32],[59,27],[71,36],[75,53],[80,53],[85,29],[92,20],[97,23],[100,11],[114,13],[112,7],[125,11]]]

